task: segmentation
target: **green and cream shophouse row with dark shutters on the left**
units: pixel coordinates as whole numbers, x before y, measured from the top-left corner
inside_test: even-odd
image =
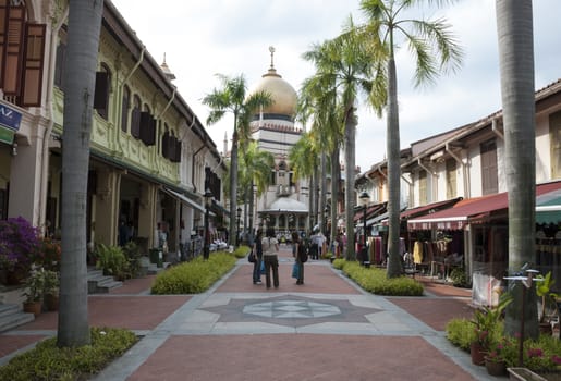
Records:
[[[0,218],[22,216],[46,234],[58,235],[63,202],[68,2],[1,0],[0,10],[4,23],[12,25],[10,15],[22,14],[25,28],[44,33],[40,38],[26,33],[21,40],[22,57],[29,57],[32,46],[40,48],[41,53],[32,62],[38,74],[23,74],[31,63],[20,67],[24,90],[26,78],[40,79],[35,89],[37,101],[26,103],[27,93],[11,95],[2,84],[0,103],[22,116],[19,128],[12,128],[12,142],[7,138],[0,143]],[[10,48],[5,39],[2,48]],[[2,57],[3,67],[10,65],[8,56]],[[119,244],[119,226],[124,223],[144,249],[161,245],[160,233],[164,232],[166,246],[178,253],[203,226],[206,180],[212,174],[221,179],[225,168],[172,79],[166,63],[160,66],[156,62],[106,0],[87,188],[87,236],[92,244]],[[215,204],[220,205],[220,181],[214,179],[211,188]]]

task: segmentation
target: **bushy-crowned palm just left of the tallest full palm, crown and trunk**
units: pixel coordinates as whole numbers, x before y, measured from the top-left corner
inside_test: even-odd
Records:
[[[317,79],[331,84],[337,93],[338,105],[342,108],[339,115],[344,125],[345,152],[345,222],[349,245],[345,257],[355,259],[354,251],[354,208],[356,202],[354,192],[355,177],[355,132],[356,101],[361,93],[370,95],[373,90],[374,66],[376,51],[363,44],[357,35],[353,21],[349,23],[342,35],[305,53],[304,58],[314,61],[318,67]],[[325,77],[325,78],[322,78]]]

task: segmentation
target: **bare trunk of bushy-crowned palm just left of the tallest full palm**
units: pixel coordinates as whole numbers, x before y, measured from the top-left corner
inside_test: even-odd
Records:
[[[345,223],[346,223],[346,260],[355,260],[355,234],[354,234],[354,207],[356,205],[356,197],[354,190],[354,167],[355,167],[355,131],[356,131],[356,116],[354,114],[353,102],[345,116]]]

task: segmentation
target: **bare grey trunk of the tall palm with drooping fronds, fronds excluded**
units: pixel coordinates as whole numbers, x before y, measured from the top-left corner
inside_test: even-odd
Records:
[[[402,274],[400,260],[400,118],[398,110],[398,76],[395,61],[388,61],[388,123],[387,123],[387,150],[388,150],[388,278]]]

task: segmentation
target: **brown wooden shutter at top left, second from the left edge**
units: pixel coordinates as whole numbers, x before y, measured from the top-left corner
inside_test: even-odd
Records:
[[[27,24],[23,72],[22,106],[41,106],[45,58],[45,24]]]

